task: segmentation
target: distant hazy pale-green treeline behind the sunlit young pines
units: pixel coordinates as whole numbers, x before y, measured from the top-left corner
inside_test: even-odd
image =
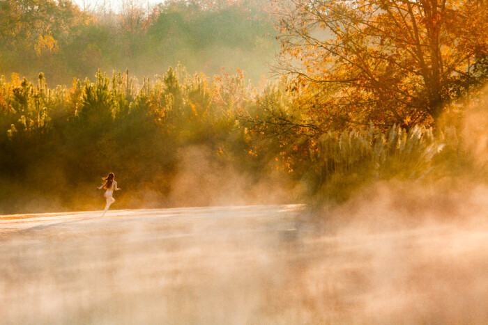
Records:
[[[248,71],[259,80],[277,42],[260,1],[165,1],[121,13],[82,11],[71,1],[0,1],[0,73],[29,79],[44,72],[70,84],[101,68],[162,74],[178,62],[190,71]]]

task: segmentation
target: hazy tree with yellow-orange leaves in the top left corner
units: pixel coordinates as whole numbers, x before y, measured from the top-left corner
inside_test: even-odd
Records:
[[[0,1],[0,70],[47,76],[69,68],[63,62],[75,29],[87,16],[68,0]],[[56,71],[56,72],[54,72]]]

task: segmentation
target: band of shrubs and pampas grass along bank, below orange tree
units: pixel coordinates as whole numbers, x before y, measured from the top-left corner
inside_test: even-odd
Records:
[[[2,77],[1,212],[100,208],[95,187],[107,171],[123,184],[118,207],[135,208],[342,202],[374,180],[435,179],[452,161],[467,166],[455,128],[289,134],[301,117],[287,81],[244,80],[181,65],[140,85],[100,70],[71,88],[48,88],[42,73],[36,84]],[[266,122],[276,118],[291,125]]]

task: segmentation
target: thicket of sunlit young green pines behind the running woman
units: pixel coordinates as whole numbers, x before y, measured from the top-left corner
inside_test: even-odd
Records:
[[[195,145],[218,164],[256,171],[254,161],[242,164],[250,143],[234,114],[254,95],[241,73],[211,80],[178,65],[140,87],[128,71],[95,77],[69,89],[48,88],[43,74],[37,86],[1,77],[0,183],[15,191],[0,193],[0,213],[23,212],[22,198],[34,196],[56,198],[57,209],[97,208],[86,191],[107,171],[125,184],[119,207],[140,206],[147,192],[164,202],[181,152]]]

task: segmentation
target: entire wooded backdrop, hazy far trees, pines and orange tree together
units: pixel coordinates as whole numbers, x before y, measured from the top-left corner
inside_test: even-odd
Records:
[[[151,12],[135,7],[96,19],[69,1],[1,3],[8,15],[0,24],[9,28],[0,31],[0,61],[25,75],[44,67],[47,77],[0,79],[0,213],[100,208],[94,189],[108,171],[123,187],[119,208],[322,205],[379,180],[437,182],[472,177],[468,171],[475,182],[488,180],[482,1],[433,5],[444,17],[435,26],[424,15],[436,0],[291,3],[296,7],[280,22],[282,76],[259,86],[238,69],[208,77],[176,65],[139,81],[129,70],[103,72],[130,63],[140,73],[147,71],[142,63],[171,55],[198,57],[198,70],[213,70],[225,55],[199,55],[214,58],[223,47],[254,61],[270,49],[259,1],[167,1]],[[465,13],[473,19],[458,31],[452,22]],[[310,26],[307,19],[317,15]],[[405,29],[386,29],[402,15],[410,17],[401,22]],[[352,29],[355,19],[364,28]],[[58,29],[45,24],[54,21]],[[371,34],[372,22],[378,33]],[[326,24],[351,31],[337,27],[323,40]],[[457,39],[445,51],[443,42]],[[95,67],[104,69],[93,81],[47,86],[49,76],[57,84]]]

